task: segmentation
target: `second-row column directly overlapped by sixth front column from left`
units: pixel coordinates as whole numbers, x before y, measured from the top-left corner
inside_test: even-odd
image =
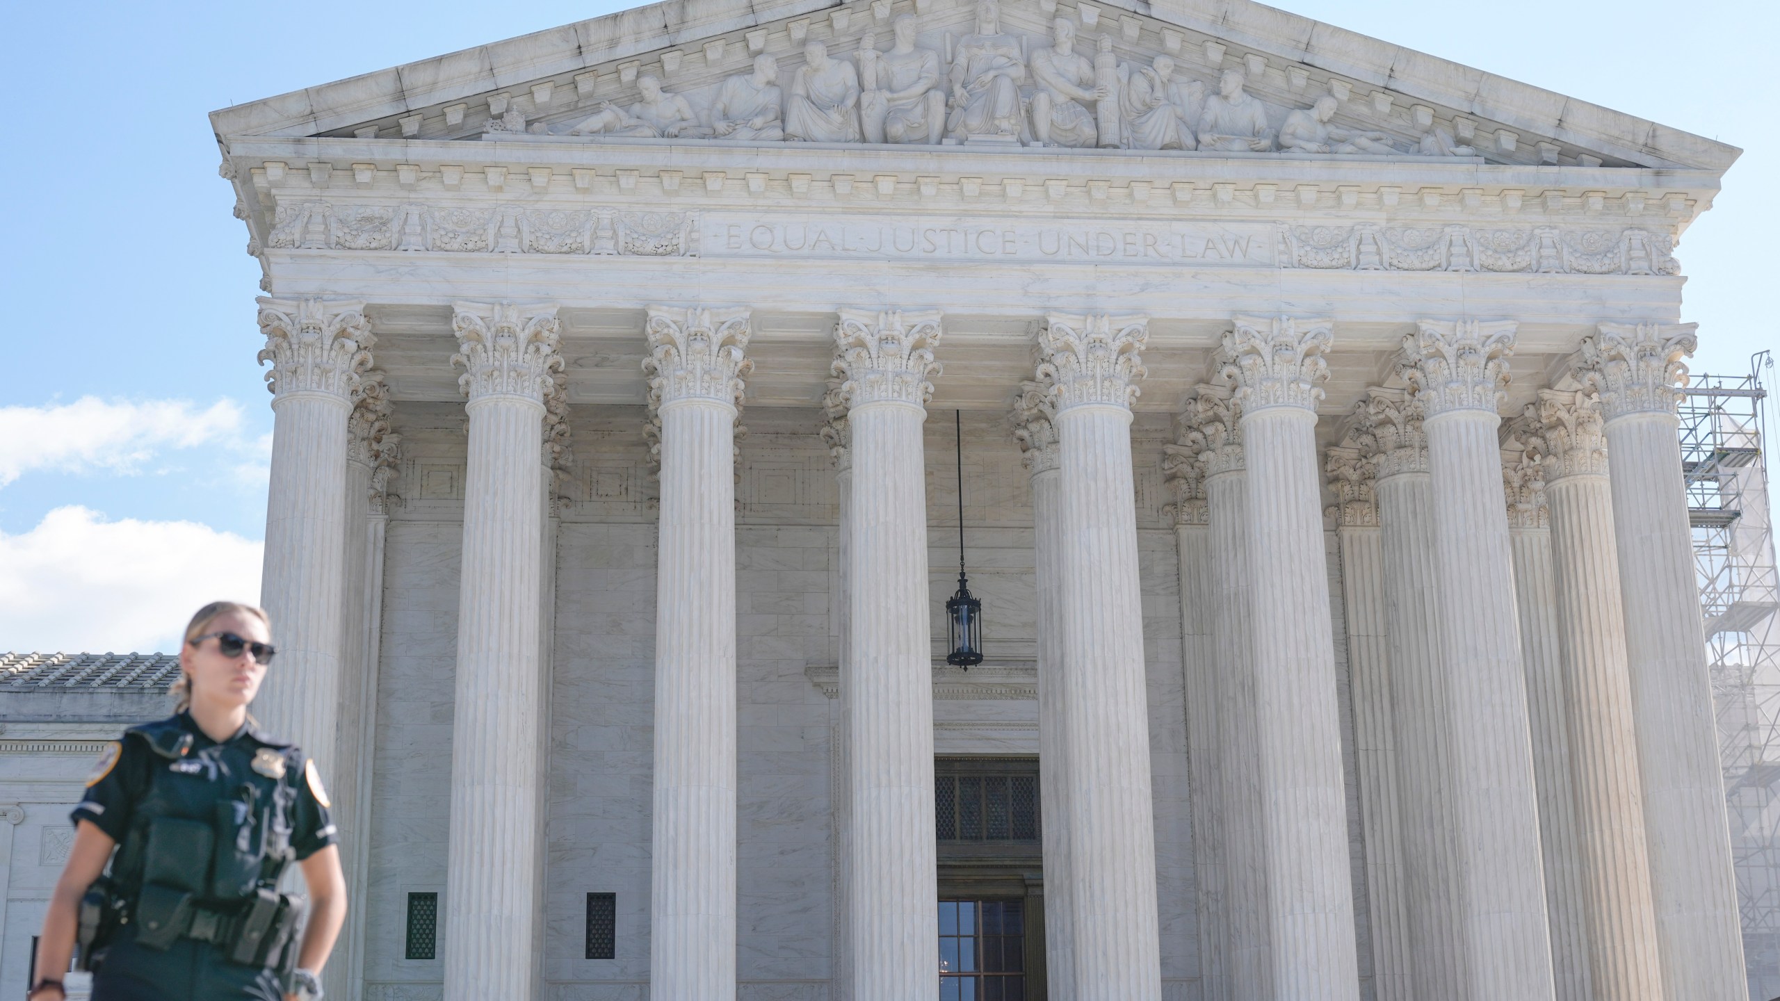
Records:
[[[1216,650],[1218,764],[1228,912],[1230,997],[1273,997],[1273,921],[1267,896],[1266,807],[1255,695],[1253,570],[1248,541],[1248,470],[1242,408],[1226,387],[1196,387],[1180,417],[1182,442],[1205,483],[1210,557],[1210,618]]]

